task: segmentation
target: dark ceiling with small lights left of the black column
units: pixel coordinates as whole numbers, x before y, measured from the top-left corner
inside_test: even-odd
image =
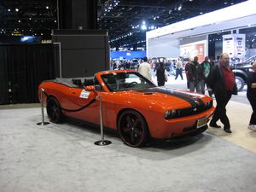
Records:
[[[50,38],[57,28],[56,0],[0,0],[0,36]]]

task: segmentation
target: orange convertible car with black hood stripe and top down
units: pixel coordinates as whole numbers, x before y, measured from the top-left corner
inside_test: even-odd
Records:
[[[101,96],[103,126],[117,130],[131,147],[143,146],[150,137],[170,139],[205,131],[214,112],[211,97],[157,87],[131,70],[48,80],[39,85],[39,96],[41,90],[53,123],[69,116],[100,125]]]

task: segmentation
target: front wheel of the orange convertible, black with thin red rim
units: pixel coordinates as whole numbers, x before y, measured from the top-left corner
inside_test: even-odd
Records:
[[[148,125],[137,111],[126,110],[121,113],[118,131],[124,143],[133,148],[143,147],[148,142]]]

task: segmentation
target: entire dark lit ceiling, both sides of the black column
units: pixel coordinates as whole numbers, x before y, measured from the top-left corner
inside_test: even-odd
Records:
[[[146,32],[245,0],[97,0],[97,28],[111,47],[143,47]],[[0,36],[49,37],[58,27],[58,0],[0,0]],[[227,13],[228,14],[228,13]]]

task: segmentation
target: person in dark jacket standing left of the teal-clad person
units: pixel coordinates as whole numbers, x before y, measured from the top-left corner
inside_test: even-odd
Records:
[[[198,57],[189,63],[188,67],[189,90],[197,93],[203,93],[202,84],[204,84],[204,69],[198,62]]]

